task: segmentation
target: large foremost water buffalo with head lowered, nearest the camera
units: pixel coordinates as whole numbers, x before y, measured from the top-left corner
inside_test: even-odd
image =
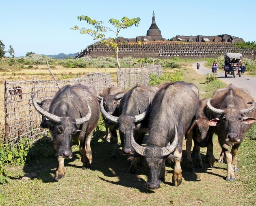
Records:
[[[172,182],[175,186],[181,184],[182,141],[196,118],[198,103],[197,87],[186,82],[167,83],[156,93],[150,108],[150,134],[147,146],[139,146],[132,141],[132,147],[145,158],[149,167],[147,185],[150,189],[159,188],[159,180],[164,181],[165,159],[173,150],[176,158]],[[176,135],[178,145],[174,141]],[[130,138],[133,139],[132,135]],[[171,143],[171,149],[168,143]],[[167,151],[162,152],[163,150]]]

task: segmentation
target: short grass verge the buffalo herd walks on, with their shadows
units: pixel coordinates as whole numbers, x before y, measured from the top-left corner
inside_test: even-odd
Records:
[[[173,71],[175,70],[177,69]],[[184,81],[197,85],[200,98],[210,98],[216,89],[226,87],[220,80],[206,84],[206,77],[197,74],[191,67],[178,70],[184,74]],[[169,73],[165,73],[165,76],[168,77]],[[128,175],[127,156],[121,154],[117,160],[110,159],[113,145],[104,141],[104,127],[99,124],[91,140],[92,170],[81,169],[78,146],[74,144],[74,157],[65,160],[65,178],[53,182],[58,166],[52,155],[53,148],[51,145],[35,145],[30,151],[33,161],[27,162],[23,167],[5,166],[5,174],[10,182],[0,186],[0,205],[256,205],[255,131],[256,125],[247,132],[238,150],[240,171],[235,174],[235,182],[225,180],[226,164],[217,163],[215,168],[208,167],[205,148],[201,150],[204,167],[195,168],[195,173],[187,172],[183,144],[182,184],[178,187],[171,186],[173,169],[167,166],[166,182],[161,184],[160,189],[149,190],[145,187],[148,171],[146,167],[139,167],[137,174]],[[213,141],[215,158],[219,158],[221,147],[216,136]],[[193,160],[195,163],[195,159]],[[34,179],[21,180],[25,173],[32,172],[37,173]]]

